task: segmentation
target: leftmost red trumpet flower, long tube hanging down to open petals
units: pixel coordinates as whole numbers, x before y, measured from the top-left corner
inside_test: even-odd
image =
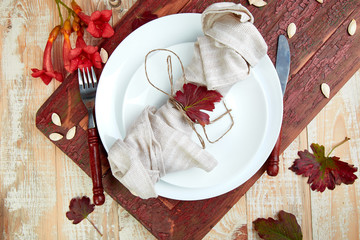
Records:
[[[59,82],[63,81],[63,77],[61,73],[54,71],[52,61],[51,61],[51,49],[53,46],[53,42],[57,38],[60,31],[60,26],[56,26],[49,34],[48,41],[45,46],[44,50],[44,57],[43,57],[43,69],[39,70],[37,68],[32,68],[31,74],[32,77],[38,78],[40,77],[41,80],[48,85],[53,78],[58,80]]]

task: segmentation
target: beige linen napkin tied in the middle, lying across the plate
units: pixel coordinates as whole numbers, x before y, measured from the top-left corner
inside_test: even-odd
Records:
[[[242,5],[215,3],[202,14],[205,36],[195,43],[194,57],[185,68],[188,82],[205,85],[223,95],[266,54],[267,45]],[[176,90],[183,81],[176,82]],[[168,101],[159,109],[146,107],[110,148],[112,174],[133,194],[157,197],[154,186],[167,173],[198,167],[211,171],[217,161],[192,141],[193,130]]]

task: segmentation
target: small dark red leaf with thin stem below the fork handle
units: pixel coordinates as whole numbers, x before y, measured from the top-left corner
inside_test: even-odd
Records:
[[[69,220],[74,220],[73,224],[78,224],[95,209],[95,205],[90,203],[90,198],[83,196],[82,198],[73,198],[69,205],[70,211],[66,212]]]

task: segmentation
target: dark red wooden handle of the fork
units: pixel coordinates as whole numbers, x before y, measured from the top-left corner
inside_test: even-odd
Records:
[[[87,132],[90,151],[91,179],[93,182],[93,201],[95,205],[102,205],[105,202],[105,195],[101,177],[99,137],[96,128],[89,128]]]

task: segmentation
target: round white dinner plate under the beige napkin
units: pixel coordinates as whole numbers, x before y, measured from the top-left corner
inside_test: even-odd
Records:
[[[96,94],[97,127],[106,151],[126,136],[130,124],[147,105],[160,107],[168,98],[147,82],[145,55],[153,49],[167,48],[176,52],[186,66],[193,56],[194,42],[201,35],[200,14],[175,14],[143,25],[119,44],[102,71]],[[170,92],[167,55],[155,52],[149,57],[147,69],[150,80]],[[182,71],[176,57],[172,62],[176,80]],[[264,164],[280,132],[283,112],[279,79],[268,56],[251,69],[247,79],[231,88],[225,102],[232,109],[234,126],[219,142],[206,144],[218,165],[209,173],[192,168],[167,174],[155,185],[160,196],[179,200],[219,196],[246,182]],[[215,118],[224,110],[217,104],[209,115]],[[226,116],[210,125],[210,138],[220,136],[230,122]],[[195,134],[193,140],[199,142]]]

